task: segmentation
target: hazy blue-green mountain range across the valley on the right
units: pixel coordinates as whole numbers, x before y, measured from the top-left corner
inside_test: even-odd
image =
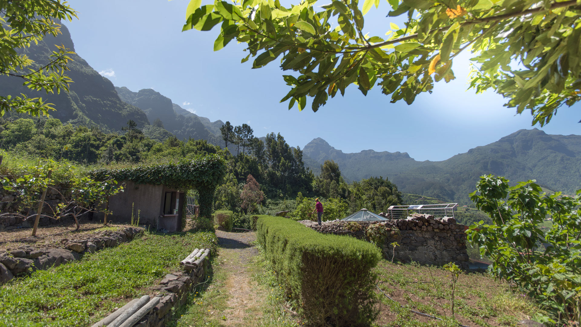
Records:
[[[317,138],[305,156],[317,163],[333,159],[349,180],[387,176],[399,190],[442,200],[468,202],[478,177],[491,173],[512,182],[536,179],[549,190],[573,194],[581,187],[581,136],[519,130],[444,161],[415,161],[406,153],[361,151],[345,154]]]

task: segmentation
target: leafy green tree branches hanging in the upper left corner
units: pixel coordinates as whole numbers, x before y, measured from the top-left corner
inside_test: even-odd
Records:
[[[73,51],[56,45],[45,62],[34,62],[23,50],[37,44],[46,35],[60,34],[59,20],[71,20],[76,12],[62,0],[0,0],[0,74],[21,80],[31,90],[46,93],[69,91],[72,80],[65,74]],[[42,98],[24,94],[0,97],[0,116],[7,111],[47,115],[54,110]]]

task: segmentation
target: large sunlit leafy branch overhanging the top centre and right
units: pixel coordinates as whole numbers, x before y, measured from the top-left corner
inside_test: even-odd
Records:
[[[549,122],[561,105],[575,104],[581,91],[581,3],[528,0],[388,0],[388,16],[407,15],[406,26],[390,23],[386,36],[364,34],[364,16],[380,4],[365,0],[316,0],[290,8],[278,0],[216,0],[201,6],[191,0],[183,30],[211,30],[221,23],[214,42],[219,50],[236,39],[259,68],[281,57],[291,87],[282,101],[313,97],[317,111],[329,96],[357,84],[363,94],[373,86],[392,101],[411,104],[432,92],[433,83],[454,79],[453,59],[469,49],[475,54],[470,87],[492,88],[521,113],[530,109],[533,125]],[[338,26],[332,27],[336,19]],[[518,62],[518,65],[515,63]]]

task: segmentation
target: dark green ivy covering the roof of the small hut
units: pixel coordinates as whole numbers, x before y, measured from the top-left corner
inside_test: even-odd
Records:
[[[188,190],[216,187],[225,175],[226,162],[216,155],[199,156],[178,163],[136,166],[130,168],[92,170],[91,175],[98,180],[131,180],[138,184],[164,184],[171,189]]]

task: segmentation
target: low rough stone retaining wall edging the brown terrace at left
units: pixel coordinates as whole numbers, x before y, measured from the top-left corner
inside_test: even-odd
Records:
[[[63,239],[62,248],[39,248],[19,246],[0,252],[0,284],[15,277],[30,275],[37,270],[80,260],[84,253],[95,253],[106,247],[116,247],[144,232],[141,227],[128,227],[123,230],[105,230],[87,239],[69,241]]]

